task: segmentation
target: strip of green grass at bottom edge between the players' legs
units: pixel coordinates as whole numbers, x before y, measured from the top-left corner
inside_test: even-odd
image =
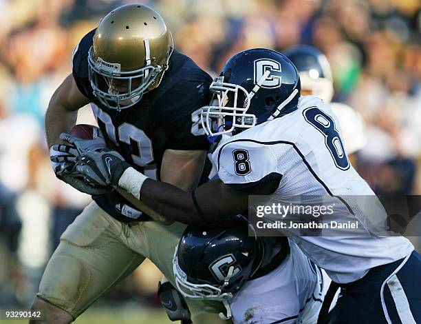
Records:
[[[28,321],[1,321],[1,324],[28,324]],[[100,308],[92,307],[74,321],[76,324],[171,324],[164,310],[153,308]]]

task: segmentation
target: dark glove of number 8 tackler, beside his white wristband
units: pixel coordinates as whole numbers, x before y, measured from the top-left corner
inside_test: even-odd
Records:
[[[122,174],[130,168],[120,153],[105,148],[91,151],[76,158],[76,170],[91,185],[118,185]]]

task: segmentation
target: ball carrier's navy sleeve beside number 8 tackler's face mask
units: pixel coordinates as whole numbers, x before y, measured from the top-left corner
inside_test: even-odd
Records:
[[[193,75],[186,76],[180,83],[171,88],[166,97],[168,105],[164,108],[162,118],[166,135],[166,148],[173,150],[208,150],[207,140],[199,111],[208,105],[212,97],[209,75],[195,68]]]

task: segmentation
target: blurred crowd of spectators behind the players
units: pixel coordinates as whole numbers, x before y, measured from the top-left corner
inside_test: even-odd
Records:
[[[175,47],[213,76],[239,50],[316,46],[332,65],[334,101],[365,121],[358,171],[378,194],[421,194],[419,0],[0,0],[0,308],[30,305],[90,199],[55,178],[44,114],[80,38],[130,2],[158,10]],[[89,108],[79,121],[94,123]],[[100,303],[158,305],[159,278],[142,265]]]

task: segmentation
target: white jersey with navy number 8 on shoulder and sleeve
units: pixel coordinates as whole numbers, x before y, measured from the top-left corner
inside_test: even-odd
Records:
[[[336,116],[313,96],[301,97],[296,111],[231,137],[215,150],[213,161],[226,184],[259,183],[281,175],[272,196],[326,195],[336,199],[364,195],[376,199],[347,159]],[[339,216],[342,221],[356,218],[348,205]],[[371,267],[402,259],[413,251],[413,245],[402,236],[373,236],[363,226],[358,231],[354,236],[293,239],[336,283],[356,281]]]

